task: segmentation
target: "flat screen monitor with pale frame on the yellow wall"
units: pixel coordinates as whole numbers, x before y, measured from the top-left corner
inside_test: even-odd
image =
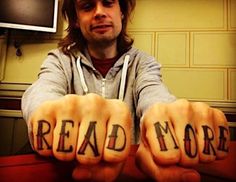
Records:
[[[0,27],[56,32],[58,0],[0,0]]]

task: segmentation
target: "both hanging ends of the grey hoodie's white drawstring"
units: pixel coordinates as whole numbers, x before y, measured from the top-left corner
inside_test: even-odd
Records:
[[[83,71],[82,71],[82,68],[81,68],[81,60],[80,59],[81,59],[81,57],[79,56],[77,58],[77,61],[76,61],[76,66],[77,66],[77,70],[79,72],[80,81],[81,81],[81,84],[82,84],[83,91],[84,91],[85,94],[87,94],[88,93],[88,87],[87,87],[87,84],[86,84],[85,79],[84,79],[84,74],[83,74]],[[125,59],[124,59],[124,65],[123,65],[122,73],[121,73],[121,81],[120,81],[120,89],[119,89],[119,99],[120,100],[124,100],[125,83],[126,83],[129,59],[130,59],[130,55],[127,54],[125,56]]]

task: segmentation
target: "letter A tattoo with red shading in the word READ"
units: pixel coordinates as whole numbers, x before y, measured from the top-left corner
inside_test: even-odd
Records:
[[[95,130],[96,123],[97,123],[96,121],[90,122],[87,133],[85,134],[85,137],[84,137],[84,141],[79,148],[78,154],[84,155],[85,154],[84,152],[87,146],[89,145],[92,148],[94,156],[99,156],[98,147],[97,147],[96,130]],[[92,133],[93,133],[94,145],[90,141],[90,137]]]

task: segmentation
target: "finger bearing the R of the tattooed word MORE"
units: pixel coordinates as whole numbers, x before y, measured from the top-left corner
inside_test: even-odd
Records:
[[[201,102],[192,103],[193,121],[198,141],[201,162],[211,162],[216,158],[216,138],[213,124],[213,110]]]

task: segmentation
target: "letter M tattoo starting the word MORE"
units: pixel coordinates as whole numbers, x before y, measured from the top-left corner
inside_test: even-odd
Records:
[[[177,143],[176,143],[176,141],[174,139],[174,135],[171,132],[170,127],[169,127],[167,121],[165,121],[165,128],[160,124],[159,121],[154,124],[154,127],[156,129],[157,139],[158,139],[161,151],[167,151],[168,150],[167,147],[166,147],[166,143],[165,143],[164,135],[162,134],[162,131],[164,131],[164,133],[166,133],[166,134],[169,131],[170,135],[171,135],[171,138],[173,139],[173,142],[174,142],[174,149],[178,149],[179,148],[177,146]]]

